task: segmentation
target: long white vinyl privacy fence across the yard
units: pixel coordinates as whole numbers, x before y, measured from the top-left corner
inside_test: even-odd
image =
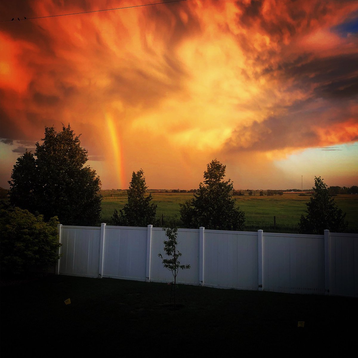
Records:
[[[171,282],[158,253],[164,231],[148,227],[58,226],[57,274]],[[358,235],[178,229],[177,281],[191,285],[358,297]]]

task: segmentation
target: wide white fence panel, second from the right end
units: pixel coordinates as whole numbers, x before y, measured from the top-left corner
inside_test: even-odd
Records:
[[[263,289],[324,294],[324,236],[264,233]]]

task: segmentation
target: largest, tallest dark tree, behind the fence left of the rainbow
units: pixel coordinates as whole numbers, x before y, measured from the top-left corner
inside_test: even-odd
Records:
[[[101,182],[96,171],[85,166],[87,150],[70,125],[56,132],[45,127],[43,143],[18,158],[9,181],[12,205],[57,216],[65,225],[94,225],[101,213]]]

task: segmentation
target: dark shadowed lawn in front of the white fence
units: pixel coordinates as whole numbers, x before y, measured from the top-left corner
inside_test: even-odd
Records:
[[[199,347],[213,353],[290,349],[290,355],[309,349],[311,355],[337,347],[347,356],[355,342],[354,298],[189,285],[180,285],[178,295],[179,309],[170,310],[166,284],[52,275],[3,286],[1,353],[191,357]]]

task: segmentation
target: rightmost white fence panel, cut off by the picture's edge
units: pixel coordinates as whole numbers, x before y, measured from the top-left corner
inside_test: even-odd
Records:
[[[330,233],[330,294],[358,297],[358,235]]]

